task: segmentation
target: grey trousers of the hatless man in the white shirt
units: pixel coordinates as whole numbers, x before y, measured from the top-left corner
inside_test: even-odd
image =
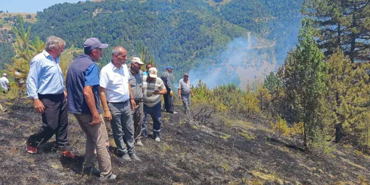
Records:
[[[131,109],[128,101],[108,102],[112,114],[111,127],[114,142],[118,148],[118,156],[135,153],[134,130],[132,125]],[[122,134],[122,131],[124,135]],[[127,148],[125,147],[125,144]]]

